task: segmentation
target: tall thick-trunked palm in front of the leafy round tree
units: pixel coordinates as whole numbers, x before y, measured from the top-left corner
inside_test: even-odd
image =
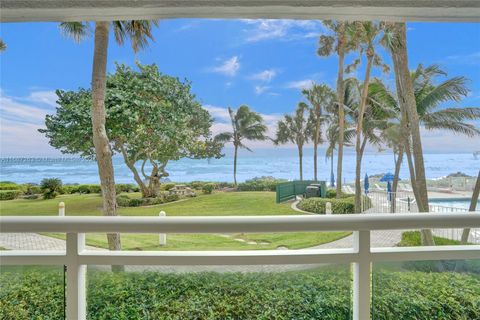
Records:
[[[115,216],[116,193],[115,177],[112,164],[112,151],[105,130],[105,90],[107,79],[107,52],[110,28],[113,29],[115,40],[123,45],[127,38],[131,41],[133,51],[137,52],[153,40],[151,33],[153,25],[157,21],[97,21],[95,22],[95,42],[92,68],[92,129],[93,144],[100,175],[100,184],[103,196],[103,214]],[[80,41],[88,35],[89,25],[86,22],[64,22],[60,24],[62,32]],[[119,234],[108,234],[108,246],[110,250],[121,250]]]

